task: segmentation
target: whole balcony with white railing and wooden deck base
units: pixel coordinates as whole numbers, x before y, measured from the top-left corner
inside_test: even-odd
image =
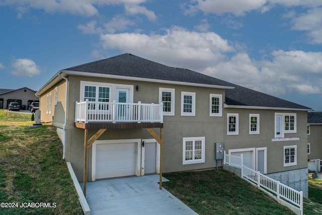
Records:
[[[120,102],[75,102],[75,127],[156,128],[163,127],[163,104]]]

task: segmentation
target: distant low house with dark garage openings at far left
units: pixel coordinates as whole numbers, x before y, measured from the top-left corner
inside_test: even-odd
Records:
[[[0,89],[0,109],[7,109],[10,102],[18,102],[21,109],[28,109],[32,102],[39,101],[35,93],[36,91],[26,87],[18,90]]]

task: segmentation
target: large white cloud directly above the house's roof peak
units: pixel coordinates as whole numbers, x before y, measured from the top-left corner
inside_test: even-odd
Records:
[[[120,33],[101,35],[105,49],[120,49],[167,65],[202,69],[223,60],[235,49],[213,32],[189,32],[180,27],[161,34]],[[198,42],[196,42],[198,41]]]

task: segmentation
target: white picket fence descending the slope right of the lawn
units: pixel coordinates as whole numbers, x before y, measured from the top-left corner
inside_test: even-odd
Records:
[[[277,199],[283,200],[289,206],[295,207],[303,214],[303,191],[297,191],[282,184],[258,171],[243,165],[243,154],[240,157],[226,155],[224,152],[224,164],[241,169],[241,177],[254,183],[257,187],[275,195]]]

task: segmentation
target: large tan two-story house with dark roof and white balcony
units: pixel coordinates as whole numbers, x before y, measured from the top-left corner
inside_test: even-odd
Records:
[[[132,54],[62,69],[36,95],[80,182],[213,169],[221,142],[307,196],[308,107]]]

